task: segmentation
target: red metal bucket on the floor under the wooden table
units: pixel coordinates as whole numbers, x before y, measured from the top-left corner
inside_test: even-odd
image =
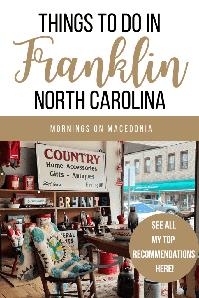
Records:
[[[117,260],[114,260],[112,257],[116,257],[117,254],[109,254],[108,252],[99,251],[100,254],[100,265],[112,264]],[[106,268],[98,268],[98,273],[101,274],[115,274],[117,272],[117,265],[106,267]]]

